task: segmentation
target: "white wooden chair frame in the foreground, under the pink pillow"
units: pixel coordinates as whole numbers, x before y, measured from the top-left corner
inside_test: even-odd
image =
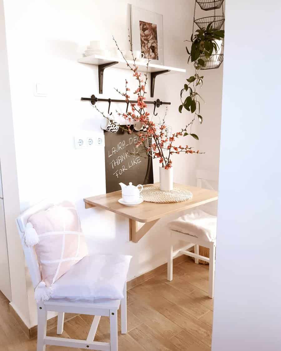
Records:
[[[41,272],[38,260],[33,247],[27,247],[24,240],[24,230],[28,218],[32,214],[46,210],[53,203],[42,201],[40,204],[28,209],[17,218],[18,230],[24,249],[26,263],[30,271],[32,284],[35,287],[41,282]],[[121,304],[121,333],[127,332],[127,303],[126,303],[126,283],[123,290],[124,298],[120,299],[99,299],[98,302],[88,303],[85,300],[71,302],[69,299],[54,299],[40,302],[37,304],[38,309],[38,335],[37,351],[45,351],[46,345],[68,346],[79,349],[100,350],[100,351],[118,351],[118,327],[117,327],[117,310]],[[92,314],[94,316],[89,334],[86,340],[57,338],[46,336],[47,330],[47,311],[58,312],[57,334],[63,333],[64,313]],[[93,341],[98,328],[101,316],[110,317],[110,343]]]

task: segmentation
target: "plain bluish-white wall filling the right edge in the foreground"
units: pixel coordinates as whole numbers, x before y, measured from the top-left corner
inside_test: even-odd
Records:
[[[280,16],[226,5],[213,351],[281,349]]]

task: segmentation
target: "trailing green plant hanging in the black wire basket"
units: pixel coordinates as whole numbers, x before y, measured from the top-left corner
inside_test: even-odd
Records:
[[[205,62],[208,61],[211,55],[219,49],[217,40],[224,38],[224,30],[216,30],[212,27],[212,23],[209,23],[206,29],[197,29],[195,35],[191,35],[191,49],[187,53],[188,63],[194,62],[195,74],[187,78],[187,83],[181,90],[181,105],[178,107],[178,111],[182,113],[183,108],[185,110],[194,113],[194,118],[191,121],[190,128],[197,116],[200,124],[203,122],[203,117],[200,114],[200,101],[202,97],[198,94],[197,88],[203,85],[203,75],[200,75],[200,69],[205,66]],[[184,99],[183,94],[187,93],[187,97]],[[202,99],[203,100],[203,99]],[[204,100],[203,100],[204,101]],[[196,134],[190,134],[195,139],[199,140]]]

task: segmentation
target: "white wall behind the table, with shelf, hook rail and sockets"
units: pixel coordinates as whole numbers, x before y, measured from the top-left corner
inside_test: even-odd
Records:
[[[133,255],[129,280],[161,265],[166,260],[164,224],[172,217],[159,222],[138,244],[129,243],[128,220],[107,211],[84,209],[84,197],[105,192],[103,148],[74,150],[72,146],[73,135],[79,131],[100,133],[100,116],[90,103],[80,101],[82,96],[98,96],[98,67],[78,64],[77,59],[90,40],[102,39],[113,46],[112,35],[121,48],[129,48],[127,1],[4,2],[21,210],[50,194],[64,194],[78,207],[91,252]],[[193,73],[192,66],[187,66],[183,40],[190,37],[194,4],[179,0],[171,8],[171,2],[161,0],[132,3],[163,14],[165,65],[188,69],[186,75],[156,79],[155,98],[171,101],[167,121],[177,131],[190,120],[188,113],[178,113],[178,105],[185,78]],[[125,78],[133,87],[135,80],[129,71],[106,69],[103,97],[118,96],[113,88],[123,89]],[[48,97],[34,97],[36,82],[49,85]],[[106,104],[98,106],[107,109]],[[112,105],[112,111],[123,107]],[[162,107],[158,115],[164,111]],[[194,132],[200,135],[197,128],[196,121]],[[184,142],[196,149],[199,145],[194,139]],[[175,156],[174,180],[194,185],[197,162],[197,155]],[[156,163],[156,181],[157,168]]]

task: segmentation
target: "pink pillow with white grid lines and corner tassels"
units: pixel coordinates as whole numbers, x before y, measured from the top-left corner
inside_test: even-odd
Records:
[[[53,284],[88,254],[85,237],[75,206],[64,201],[29,218],[39,243],[35,251],[46,286]]]

